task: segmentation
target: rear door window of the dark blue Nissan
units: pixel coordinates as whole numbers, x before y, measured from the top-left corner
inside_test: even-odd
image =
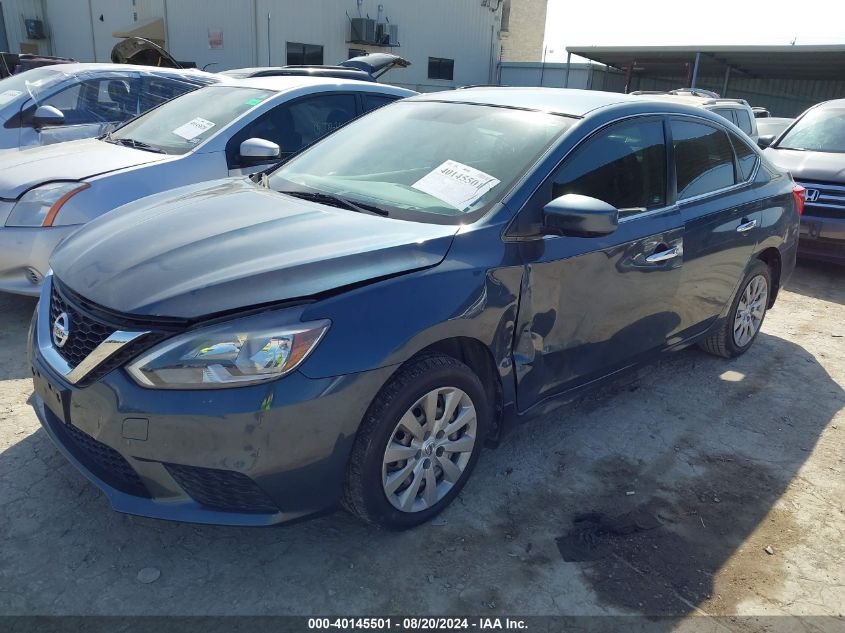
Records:
[[[671,126],[678,200],[734,184],[734,155],[724,131],[692,121],[673,120]]]

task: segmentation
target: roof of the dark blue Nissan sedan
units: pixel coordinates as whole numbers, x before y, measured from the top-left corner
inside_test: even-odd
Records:
[[[592,110],[617,103],[636,103],[637,97],[620,92],[578,90],[575,88],[501,88],[478,87],[430,92],[411,97],[411,101],[451,101],[493,105],[522,110],[538,110],[572,117],[582,117]]]

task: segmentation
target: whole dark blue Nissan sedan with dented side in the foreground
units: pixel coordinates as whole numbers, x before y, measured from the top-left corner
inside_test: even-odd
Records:
[[[412,97],[63,242],[33,403],[118,510],[264,525],[342,503],[407,528],[515,418],[667,350],[748,350],[802,200],[685,104]]]

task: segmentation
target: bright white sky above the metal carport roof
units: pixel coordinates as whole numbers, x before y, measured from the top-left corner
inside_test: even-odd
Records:
[[[793,40],[796,44],[845,44],[845,2],[549,0],[546,16],[547,62],[565,62],[567,46],[790,44]]]

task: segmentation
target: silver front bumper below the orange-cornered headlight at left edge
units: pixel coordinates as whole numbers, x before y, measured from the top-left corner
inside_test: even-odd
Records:
[[[0,291],[37,297],[59,242],[79,226],[0,226]]]

